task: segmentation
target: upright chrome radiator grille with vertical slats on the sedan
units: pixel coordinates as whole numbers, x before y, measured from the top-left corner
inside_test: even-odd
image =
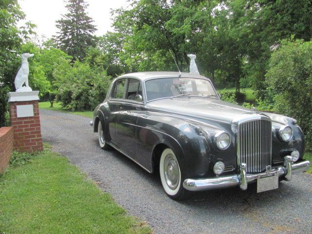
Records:
[[[247,173],[260,173],[271,165],[272,123],[268,119],[240,123],[237,132],[239,163],[247,164]]]

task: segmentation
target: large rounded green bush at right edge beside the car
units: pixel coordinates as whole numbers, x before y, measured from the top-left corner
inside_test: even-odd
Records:
[[[312,149],[312,41],[282,40],[270,59],[266,82],[276,112],[297,119]]]

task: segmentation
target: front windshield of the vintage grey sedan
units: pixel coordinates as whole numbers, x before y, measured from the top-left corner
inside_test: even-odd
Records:
[[[145,82],[147,101],[175,96],[216,96],[210,81],[199,78],[158,78]]]

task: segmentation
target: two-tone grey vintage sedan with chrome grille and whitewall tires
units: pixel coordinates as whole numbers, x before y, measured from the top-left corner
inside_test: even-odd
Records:
[[[210,79],[176,72],[116,78],[90,123],[101,148],[113,147],[149,173],[166,194],[257,183],[278,188],[303,172],[304,138],[296,120],[220,100]]]

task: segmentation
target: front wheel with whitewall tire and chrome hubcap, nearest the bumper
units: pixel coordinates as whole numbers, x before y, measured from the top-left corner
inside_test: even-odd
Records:
[[[170,148],[165,149],[160,156],[159,174],[162,187],[170,198],[175,200],[186,198],[188,191],[183,188],[179,163]]]

